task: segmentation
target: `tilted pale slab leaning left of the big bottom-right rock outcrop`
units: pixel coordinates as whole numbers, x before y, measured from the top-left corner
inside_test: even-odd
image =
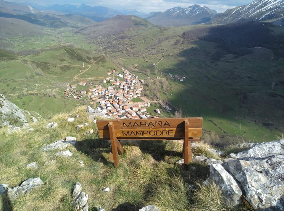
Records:
[[[220,187],[228,206],[237,208],[241,204],[242,191],[232,175],[220,164],[210,166],[209,181],[214,181]]]

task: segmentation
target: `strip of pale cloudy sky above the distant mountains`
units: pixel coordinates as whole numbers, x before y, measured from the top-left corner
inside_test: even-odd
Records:
[[[13,0],[6,0],[13,1]],[[145,13],[163,12],[172,7],[189,7],[193,4],[205,5],[217,12],[224,12],[236,6],[249,4],[253,0],[26,0],[46,6],[51,4],[88,4],[112,9],[137,9]],[[47,3],[48,2],[48,3]]]

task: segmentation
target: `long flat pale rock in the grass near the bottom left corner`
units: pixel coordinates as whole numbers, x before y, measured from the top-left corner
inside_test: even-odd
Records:
[[[28,179],[25,180],[20,186],[8,188],[7,194],[11,200],[14,200],[18,195],[26,194],[28,191],[31,191],[32,189],[41,185],[43,185],[43,182],[39,177]]]

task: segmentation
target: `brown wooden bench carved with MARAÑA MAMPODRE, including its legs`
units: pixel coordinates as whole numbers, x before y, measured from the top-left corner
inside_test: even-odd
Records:
[[[192,162],[191,141],[200,140],[202,117],[169,119],[98,120],[99,135],[111,140],[110,158],[119,166],[124,150],[119,140],[183,140],[184,164]]]

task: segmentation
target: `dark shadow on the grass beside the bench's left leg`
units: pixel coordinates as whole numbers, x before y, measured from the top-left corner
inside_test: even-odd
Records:
[[[113,163],[106,160],[103,155],[103,153],[109,153],[110,146],[108,140],[86,137],[82,141],[77,141],[75,148],[87,156],[90,156],[95,162],[98,162],[100,159],[100,162],[104,165],[113,165]]]

